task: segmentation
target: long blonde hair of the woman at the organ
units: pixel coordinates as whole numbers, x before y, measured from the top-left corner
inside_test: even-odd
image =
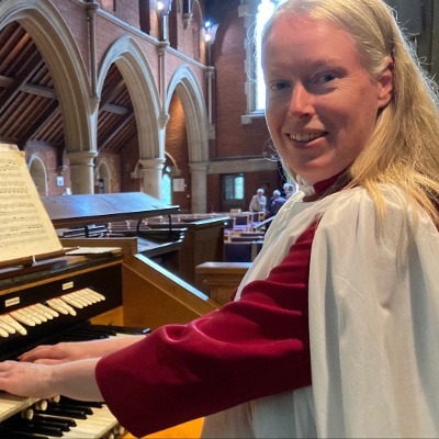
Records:
[[[264,37],[286,13],[329,21],[345,29],[356,40],[364,68],[373,78],[380,77],[392,58],[393,98],[379,114],[372,136],[349,169],[349,187],[364,187],[382,217],[384,203],[379,184],[394,184],[439,225],[437,85],[420,67],[393,10],[382,0],[286,0],[267,23]]]

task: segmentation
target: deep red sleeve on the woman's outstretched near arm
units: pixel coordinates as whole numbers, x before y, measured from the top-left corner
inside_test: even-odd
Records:
[[[311,384],[308,272],[315,227],[238,302],[166,325],[101,359],[110,409],[144,436],[258,397]]]

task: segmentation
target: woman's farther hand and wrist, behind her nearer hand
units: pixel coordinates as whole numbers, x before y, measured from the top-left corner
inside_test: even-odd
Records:
[[[20,356],[19,360],[38,364],[59,364],[87,358],[97,358],[130,346],[144,337],[126,336],[92,341],[59,342],[53,346],[41,345]]]

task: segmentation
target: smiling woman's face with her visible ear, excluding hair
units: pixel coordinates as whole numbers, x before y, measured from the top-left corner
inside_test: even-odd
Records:
[[[341,27],[285,14],[263,46],[266,117],[284,164],[309,183],[348,168],[392,98],[392,72],[364,69]]]

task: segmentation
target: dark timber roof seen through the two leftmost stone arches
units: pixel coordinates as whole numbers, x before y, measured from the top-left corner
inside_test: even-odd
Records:
[[[102,89],[98,148],[121,153],[137,135],[125,82],[112,65]],[[0,142],[20,149],[48,145],[63,156],[63,116],[50,72],[32,37],[16,22],[0,30]]]

